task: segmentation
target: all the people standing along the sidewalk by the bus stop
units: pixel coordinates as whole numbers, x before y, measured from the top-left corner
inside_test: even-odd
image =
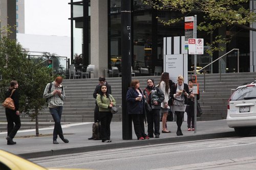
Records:
[[[62,86],[62,77],[57,77],[52,83],[48,83],[43,97],[48,99],[48,107],[54,119],[53,143],[58,144],[57,136],[68,143],[69,140],[63,136],[60,119],[62,114],[63,101],[66,95]],[[158,87],[155,86],[154,79],[147,79],[147,86],[142,90],[139,80],[132,80],[130,88],[126,93],[127,114],[131,115],[134,131],[138,140],[159,138],[160,136],[160,111],[162,112],[162,133],[170,133],[166,126],[166,117],[169,110],[173,110],[176,115],[178,136],[183,135],[181,125],[184,112],[187,112],[188,131],[195,130],[194,127],[194,98],[192,90],[192,79],[188,85],[184,83],[184,78],[179,75],[177,83],[169,80],[168,72],[163,72]],[[10,96],[15,104],[15,110],[6,108],[8,136],[7,144],[16,144],[13,141],[18,129],[20,128],[19,118],[19,96],[17,89],[18,82],[11,81],[6,97]],[[116,105],[116,100],[111,95],[111,86],[105,81],[105,78],[99,78],[99,84],[96,86],[93,97],[96,99],[94,110],[94,122],[100,122],[100,137],[102,142],[111,142],[110,124],[113,117],[111,108]],[[197,100],[200,96],[197,95]],[[172,100],[172,104],[168,104]],[[145,109],[145,104],[149,105],[150,110]],[[145,133],[144,120],[147,120],[147,134]],[[15,126],[14,126],[15,124]],[[88,138],[88,139],[93,139]]]

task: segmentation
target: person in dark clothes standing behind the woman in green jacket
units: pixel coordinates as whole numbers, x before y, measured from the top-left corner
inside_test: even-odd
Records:
[[[108,89],[108,93],[111,94],[111,85],[106,82],[106,79],[104,77],[99,77],[99,84],[95,87],[93,92],[93,98],[96,99],[97,95],[100,93],[100,85],[106,85],[106,88]],[[99,122],[99,107],[97,105],[97,102],[95,101],[95,109],[94,109],[94,123]],[[93,139],[93,137],[88,138]]]

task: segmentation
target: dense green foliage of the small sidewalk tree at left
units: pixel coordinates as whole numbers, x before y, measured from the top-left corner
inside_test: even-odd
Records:
[[[47,83],[53,81],[51,68],[34,60],[28,60],[27,53],[19,43],[3,36],[0,39],[0,101],[11,80],[17,80],[19,87],[19,111],[28,113],[32,118],[38,110],[44,108],[46,100],[42,98]]]

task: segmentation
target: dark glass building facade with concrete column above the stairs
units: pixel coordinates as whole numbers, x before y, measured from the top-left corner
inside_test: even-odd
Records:
[[[155,66],[163,68],[163,37],[184,36],[184,22],[172,26],[164,26],[156,17],[169,19],[181,16],[178,12],[156,11],[146,6],[143,0],[131,0],[132,2],[132,66],[133,70],[142,67],[154,72]],[[83,54],[84,65],[94,64],[97,74],[103,74],[105,68],[121,61],[121,0],[94,0],[71,1],[71,59],[75,54]],[[244,5],[254,9],[254,1]],[[191,14],[193,16],[196,13]],[[200,14],[198,23],[203,21]],[[252,25],[254,27],[254,25]],[[256,55],[254,53],[256,36],[254,32],[238,27],[223,27],[214,34],[208,35],[198,32],[198,38],[204,38],[204,42],[211,42],[216,35],[229,37],[230,32],[237,32],[228,44],[219,44],[225,47],[223,52],[209,56],[207,53],[197,56],[197,66],[203,67],[218,57],[239,48],[240,60],[238,68],[237,51],[234,51],[219,62],[206,68],[209,73],[221,72],[254,72]],[[250,36],[251,35],[251,36]],[[254,45],[254,46],[253,46]],[[204,48],[207,48],[205,45]],[[194,56],[188,56],[188,70],[194,69]]]

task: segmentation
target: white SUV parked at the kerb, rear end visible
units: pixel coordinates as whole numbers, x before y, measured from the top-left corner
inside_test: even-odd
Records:
[[[227,125],[240,136],[256,129],[256,83],[239,86],[227,105]]]

